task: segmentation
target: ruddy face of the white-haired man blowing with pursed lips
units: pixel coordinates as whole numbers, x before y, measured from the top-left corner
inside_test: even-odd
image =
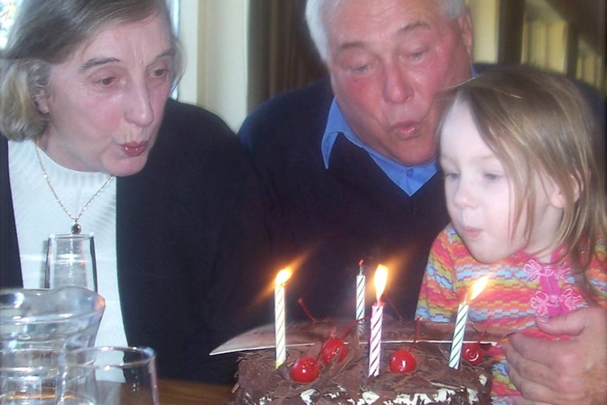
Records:
[[[327,27],[333,92],[356,135],[404,165],[432,161],[434,98],[470,77],[468,16],[450,22],[434,0],[348,0]]]

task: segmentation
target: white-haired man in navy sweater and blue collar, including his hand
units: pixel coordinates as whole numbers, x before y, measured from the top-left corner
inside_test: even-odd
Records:
[[[437,95],[473,72],[470,17],[463,0],[309,0],[306,20],[330,82],[263,104],[239,133],[270,197],[277,249],[294,268],[289,316],[301,317],[301,298],[318,318],[353,318],[363,259],[389,267],[387,311],[412,318],[430,244],[448,221]],[[580,378],[606,373],[606,314],[588,312],[596,325],[577,313],[540,323],[568,342],[513,337],[520,404],[604,399],[604,378]]]

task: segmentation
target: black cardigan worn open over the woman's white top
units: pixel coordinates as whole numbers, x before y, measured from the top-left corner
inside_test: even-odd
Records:
[[[2,137],[0,287],[20,287],[7,149]],[[163,378],[230,382],[234,358],[208,352],[268,320],[247,311],[269,255],[260,190],[237,137],[213,114],[170,100],[148,163],[116,187],[128,343],[156,349]]]

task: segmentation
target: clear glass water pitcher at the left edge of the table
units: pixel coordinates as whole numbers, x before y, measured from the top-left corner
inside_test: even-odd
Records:
[[[105,306],[81,287],[0,289],[0,405],[54,404],[59,354],[94,345]]]

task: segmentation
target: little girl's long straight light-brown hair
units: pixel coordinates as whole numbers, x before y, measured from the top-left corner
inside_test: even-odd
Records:
[[[605,146],[603,131],[577,85],[556,73],[509,66],[487,70],[449,95],[452,103],[470,107],[481,137],[511,177],[514,223],[523,225],[519,222],[525,211],[525,232],[530,234],[534,175],[549,176],[565,201],[553,242],[565,244],[576,270],[587,268],[607,235]]]

